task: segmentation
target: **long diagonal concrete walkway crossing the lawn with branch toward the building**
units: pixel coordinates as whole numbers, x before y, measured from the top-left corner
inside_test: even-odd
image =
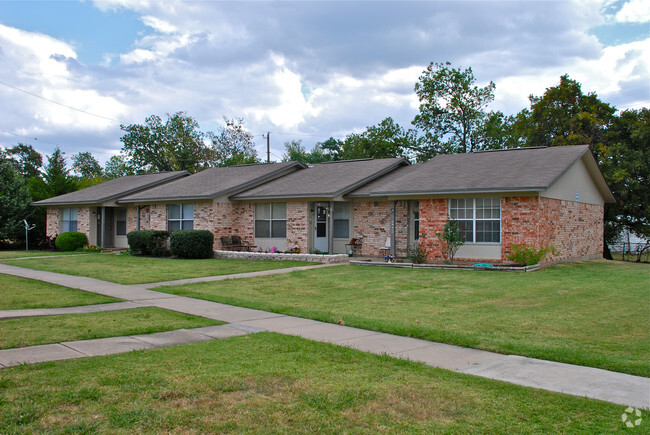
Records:
[[[313,267],[324,267],[324,265],[304,266],[299,269],[304,270]],[[288,273],[290,271],[292,270],[280,269],[254,272],[255,275],[241,274],[230,275],[228,278],[210,278],[215,278],[215,280],[232,279],[237,276],[261,276]],[[149,288],[159,285],[173,285],[179,281],[164,284],[125,286],[92,278],[42,272],[5,264],[0,264],[0,273],[52,282],[66,287],[121,298],[139,306],[155,306],[220,320],[230,323],[230,327],[235,329],[249,328],[248,331],[271,331],[295,335],[310,340],[347,346],[364,352],[388,354],[397,358],[419,361],[429,366],[454,370],[460,373],[603,400],[624,406],[650,409],[650,379],[640,376],[462,348],[149,290]],[[212,280],[209,278],[198,279]],[[185,283],[187,280],[181,280],[181,282]],[[110,339],[104,340],[104,343],[110,344]],[[113,340],[119,344],[122,338],[117,337]],[[181,339],[177,344],[182,342]],[[61,345],[70,347],[69,343],[62,343]],[[76,344],[75,346],[83,347],[82,344]],[[35,347],[42,348],[42,346]],[[120,350],[122,348],[116,344],[116,352],[124,351]],[[25,349],[25,352],[27,352],[28,349],[33,348]],[[130,350],[128,346],[126,349]],[[21,349],[11,349],[11,351],[20,352]],[[0,351],[0,355],[2,352],[5,351]],[[53,349],[52,352],[54,355],[55,350]],[[83,354],[80,356],[88,356],[86,352],[83,352],[83,349],[81,349],[80,353]],[[3,364],[1,359],[0,364]]]

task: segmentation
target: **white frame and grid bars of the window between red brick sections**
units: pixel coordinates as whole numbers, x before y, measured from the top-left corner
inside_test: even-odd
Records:
[[[458,206],[460,200],[463,201],[464,204],[463,207]],[[471,208],[468,207],[469,201],[471,201]],[[481,203],[480,206],[477,205],[477,202],[479,201]],[[488,207],[485,207],[486,201],[489,201]],[[454,202],[456,203],[456,206],[454,206]],[[498,208],[494,207],[495,202],[498,205]],[[462,213],[463,216],[459,217],[459,214],[461,214],[459,213],[460,210],[463,210]],[[493,217],[494,210],[498,210],[498,217]],[[501,244],[501,198],[500,197],[450,198],[448,211],[449,211],[449,219],[459,222],[459,226],[461,227],[461,232],[463,232],[465,235],[471,233],[472,240],[465,241],[466,244],[478,244],[478,245]],[[486,214],[489,214],[489,217],[485,217]],[[481,215],[481,217],[477,217],[479,215]],[[498,226],[499,226],[498,232],[477,229],[479,226],[477,225],[477,223],[481,223],[483,225],[485,225],[486,223],[492,223],[493,225],[495,222],[498,222]],[[467,228],[469,226],[468,223],[471,224],[471,229]],[[498,236],[498,240],[485,241],[487,235],[494,236],[495,234]],[[482,240],[477,241],[477,239],[479,238],[481,238]]]

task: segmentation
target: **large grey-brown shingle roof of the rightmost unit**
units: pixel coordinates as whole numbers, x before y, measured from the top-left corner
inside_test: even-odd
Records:
[[[438,155],[367,184],[349,196],[542,191],[585,153],[589,153],[587,145]]]

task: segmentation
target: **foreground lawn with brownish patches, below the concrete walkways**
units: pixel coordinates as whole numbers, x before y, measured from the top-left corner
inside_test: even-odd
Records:
[[[0,371],[7,434],[610,433],[623,410],[270,333]]]

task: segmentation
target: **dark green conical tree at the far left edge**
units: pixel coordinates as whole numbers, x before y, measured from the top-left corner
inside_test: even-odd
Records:
[[[30,219],[32,201],[23,176],[11,162],[0,160],[0,241],[24,237],[23,219]]]

